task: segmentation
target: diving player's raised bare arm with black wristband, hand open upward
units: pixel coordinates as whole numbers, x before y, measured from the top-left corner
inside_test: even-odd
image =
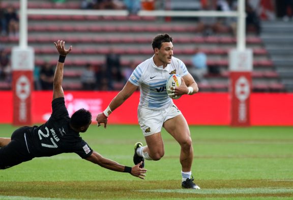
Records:
[[[61,41],[58,40],[57,42],[54,42],[54,44],[60,56],[59,56],[58,63],[56,65],[54,80],[53,80],[53,99],[58,97],[64,97],[64,92],[62,88],[63,68],[64,68],[65,58],[72,49],[72,46],[70,46],[69,49],[65,49],[64,47],[65,41],[62,41],[62,40]]]

